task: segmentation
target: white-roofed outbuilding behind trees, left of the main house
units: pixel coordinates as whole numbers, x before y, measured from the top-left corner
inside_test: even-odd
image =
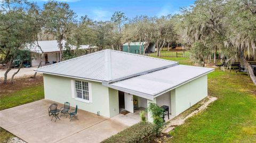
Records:
[[[66,44],[65,40],[62,40],[62,47],[63,50]],[[60,62],[60,49],[58,45],[57,40],[45,40],[45,41],[38,41],[38,45],[42,48],[42,51],[44,52],[43,59],[42,59],[42,65],[47,64],[54,64],[57,62]],[[71,47],[71,51],[76,49],[76,46],[69,45]],[[28,44],[26,45],[26,48],[31,51],[31,63],[30,66],[38,66],[40,63],[40,58],[42,51],[39,49],[36,44]],[[92,53],[95,50],[95,46],[89,46],[89,45],[81,45],[79,49],[86,49],[87,53]],[[85,53],[84,53],[85,54]]]

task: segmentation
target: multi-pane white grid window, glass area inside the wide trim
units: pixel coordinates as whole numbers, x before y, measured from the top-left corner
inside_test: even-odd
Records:
[[[89,86],[88,82],[75,80],[76,97],[89,100]]]

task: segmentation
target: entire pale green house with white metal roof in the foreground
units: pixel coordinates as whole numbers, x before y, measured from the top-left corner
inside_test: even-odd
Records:
[[[35,71],[43,73],[46,99],[113,117],[124,109],[133,113],[133,100],[138,107],[169,106],[177,116],[207,97],[213,70],[105,49]]]

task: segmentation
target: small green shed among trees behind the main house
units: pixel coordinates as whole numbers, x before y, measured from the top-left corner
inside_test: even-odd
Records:
[[[125,43],[123,44],[123,52],[139,54],[141,51],[141,54],[143,54],[145,45],[146,45],[146,42],[131,42],[130,48],[129,48],[128,43]],[[155,44],[150,43],[146,53],[154,53],[154,52],[155,52]]]

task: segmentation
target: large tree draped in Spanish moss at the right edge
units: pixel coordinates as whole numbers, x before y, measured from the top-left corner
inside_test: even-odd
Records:
[[[205,58],[203,61],[210,63],[213,55],[213,63],[216,63],[218,51],[227,68],[234,61],[241,61],[256,85],[252,67],[246,61],[246,57],[256,56],[255,9],[256,2],[250,0],[198,0],[189,9],[183,9],[182,15],[178,16],[182,27],[186,29],[183,37],[191,52],[201,54],[192,59],[202,62],[202,58]],[[179,28],[176,26],[175,29]]]

